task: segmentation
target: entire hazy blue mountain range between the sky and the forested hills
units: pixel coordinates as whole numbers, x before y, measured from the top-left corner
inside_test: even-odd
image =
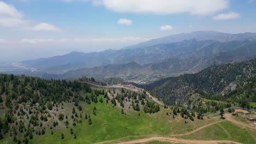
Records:
[[[212,65],[242,62],[256,56],[256,33],[199,31],[170,35],[120,50],[39,58],[21,62],[28,70],[7,71],[42,78],[82,76],[148,83],[167,76],[197,73]]]

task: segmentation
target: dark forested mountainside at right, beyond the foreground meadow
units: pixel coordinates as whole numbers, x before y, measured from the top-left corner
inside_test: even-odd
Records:
[[[195,93],[201,98],[237,102],[248,106],[256,101],[256,59],[217,65],[197,74],[169,77],[144,85],[172,104],[184,104]]]

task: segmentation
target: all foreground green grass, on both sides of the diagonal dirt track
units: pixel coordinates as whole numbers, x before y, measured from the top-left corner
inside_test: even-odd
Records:
[[[100,99],[100,97],[98,97]],[[183,119],[181,116],[172,118],[172,114],[166,116],[166,112],[171,112],[170,109],[163,109],[161,107],[160,112],[149,114],[144,112],[125,111],[127,114],[122,115],[120,107],[113,107],[112,104],[92,103],[91,105],[82,105],[82,121],[83,123],[76,123],[77,126],[73,127],[73,121],[69,118],[68,129],[63,124],[59,124],[59,127],[53,129],[54,134],[50,134],[49,127],[46,127],[45,135],[34,135],[31,143],[95,143],[101,141],[120,142],[127,140],[140,139],[149,136],[169,136],[171,134],[183,134],[192,131],[196,128],[202,127],[208,123],[220,121],[219,117],[211,117],[210,119],[204,118],[203,120],[194,118],[192,122],[189,119]],[[92,110],[96,106],[97,115],[92,115]],[[67,114],[71,117],[72,104],[64,104],[63,110],[59,110],[61,113]],[[78,115],[80,112],[77,110]],[[88,120],[84,118],[85,113],[90,113],[92,118],[92,125],[88,124]],[[140,116],[138,116],[140,113]],[[80,119],[80,118],[79,118]],[[51,120],[50,120],[51,121]],[[52,119],[53,121],[53,119]],[[65,119],[66,121],[66,119]],[[188,121],[187,124],[184,122]],[[64,121],[63,121],[64,122]],[[255,142],[256,131],[241,129],[236,125],[229,122],[220,123],[230,135],[219,125],[212,125],[211,127],[197,131],[194,134],[178,137],[181,139],[199,139],[199,140],[232,140],[245,143]],[[77,139],[74,139],[74,135],[70,134],[70,128],[73,129],[77,135]],[[241,132],[240,132],[241,131]],[[61,133],[64,134],[65,139],[61,139]],[[254,136],[253,136],[254,135]],[[18,137],[22,140],[22,136]],[[13,137],[5,139],[2,142],[11,143]]]

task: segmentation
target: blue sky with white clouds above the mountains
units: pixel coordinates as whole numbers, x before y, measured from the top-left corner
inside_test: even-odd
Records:
[[[253,0],[0,0],[0,62],[193,31],[256,32]]]

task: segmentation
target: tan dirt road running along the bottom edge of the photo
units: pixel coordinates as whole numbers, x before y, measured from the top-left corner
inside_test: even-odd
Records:
[[[173,142],[173,143],[189,143],[189,144],[210,144],[210,143],[239,143],[235,141],[227,141],[227,140],[219,140],[219,141],[202,141],[202,140],[183,140],[183,139],[176,139],[170,137],[150,137],[148,139],[140,139],[134,141],[127,141],[127,142],[120,142],[119,144],[134,144],[134,143],[143,143],[149,141],[165,141],[165,142]],[[240,144],[240,143],[239,143]]]

